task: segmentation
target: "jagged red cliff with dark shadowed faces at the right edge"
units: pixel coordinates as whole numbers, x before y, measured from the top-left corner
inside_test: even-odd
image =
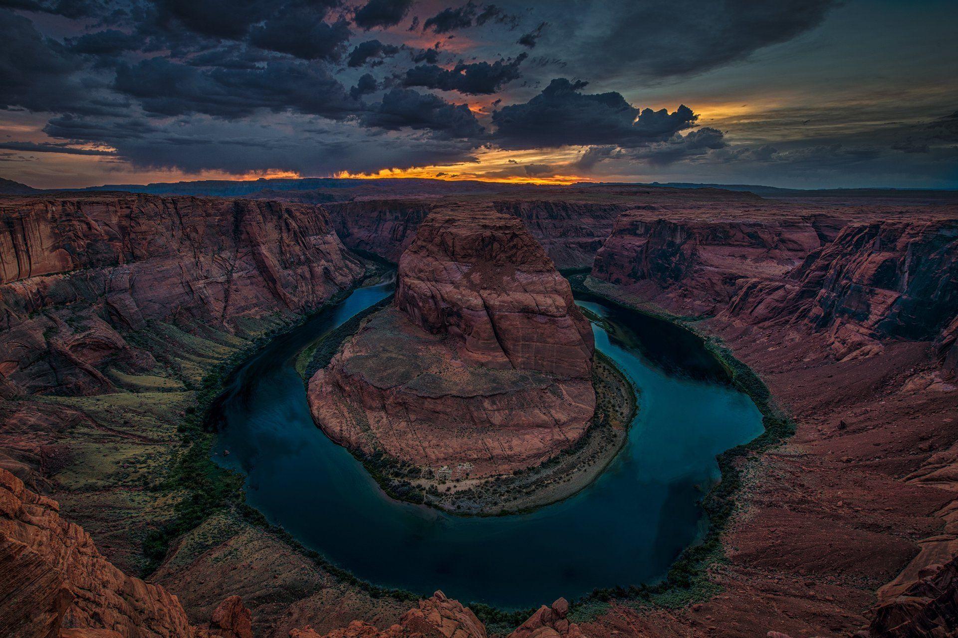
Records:
[[[881,341],[948,336],[958,317],[958,221],[852,223],[780,281],[745,282],[725,318],[800,322],[828,334],[839,358],[878,353]]]

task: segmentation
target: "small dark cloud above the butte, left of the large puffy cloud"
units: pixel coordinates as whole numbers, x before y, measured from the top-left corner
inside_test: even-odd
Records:
[[[381,103],[362,115],[362,122],[389,130],[428,128],[453,138],[483,134],[483,127],[466,104],[447,103],[439,96],[402,88],[384,95]]]

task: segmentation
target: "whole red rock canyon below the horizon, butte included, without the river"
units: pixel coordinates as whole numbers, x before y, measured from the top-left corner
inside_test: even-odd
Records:
[[[953,635],[958,207],[842,197],[628,185],[326,205],[286,192],[4,196],[0,564],[36,587],[4,592],[29,598],[3,598],[0,623],[103,637]],[[503,233],[513,239],[490,241]],[[309,385],[318,420],[336,415],[347,426],[332,436],[359,448],[369,432],[343,406],[368,410],[371,429],[400,405],[463,425],[486,393],[456,395],[501,375],[521,376],[525,396],[484,405],[482,418],[527,416],[520,429],[548,433],[535,445],[518,432],[496,458],[468,423],[459,438],[432,437],[445,457],[386,430],[376,441],[496,473],[554,454],[559,433],[563,445],[581,434],[591,334],[556,268],[588,268],[578,285],[672,316],[759,373],[796,432],[736,461],[744,486],[710,588],[678,587],[677,604],[613,593],[575,613],[559,601],[490,631],[440,593],[410,611],[357,586],[232,496],[172,525],[198,498],[174,478],[198,474],[171,467],[194,467],[194,445],[208,454],[211,435],[180,431],[203,378],[357,284],[374,258],[399,263],[394,307]],[[496,266],[454,265],[470,261]],[[536,308],[533,323],[549,330],[514,308]],[[400,373],[410,382],[387,387]],[[428,392],[413,383],[423,375]],[[348,400],[324,396],[335,384]],[[151,562],[142,544],[163,528],[175,535]],[[35,613],[12,613],[25,608]]]

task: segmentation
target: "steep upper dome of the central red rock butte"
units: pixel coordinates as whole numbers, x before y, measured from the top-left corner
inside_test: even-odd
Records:
[[[443,211],[399,260],[396,306],[490,368],[587,377],[592,330],[542,247],[513,218]]]

